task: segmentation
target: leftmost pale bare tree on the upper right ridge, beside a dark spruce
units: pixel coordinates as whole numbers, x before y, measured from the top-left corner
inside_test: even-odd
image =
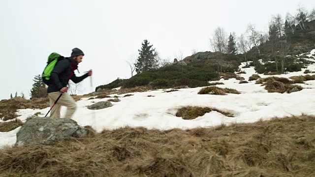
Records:
[[[217,27],[210,40],[210,46],[214,52],[220,52],[222,54],[227,51],[228,35],[221,27]]]

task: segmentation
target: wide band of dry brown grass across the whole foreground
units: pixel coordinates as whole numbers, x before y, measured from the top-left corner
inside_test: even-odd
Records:
[[[314,177],[315,117],[90,138],[0,149],[3,177]]]

